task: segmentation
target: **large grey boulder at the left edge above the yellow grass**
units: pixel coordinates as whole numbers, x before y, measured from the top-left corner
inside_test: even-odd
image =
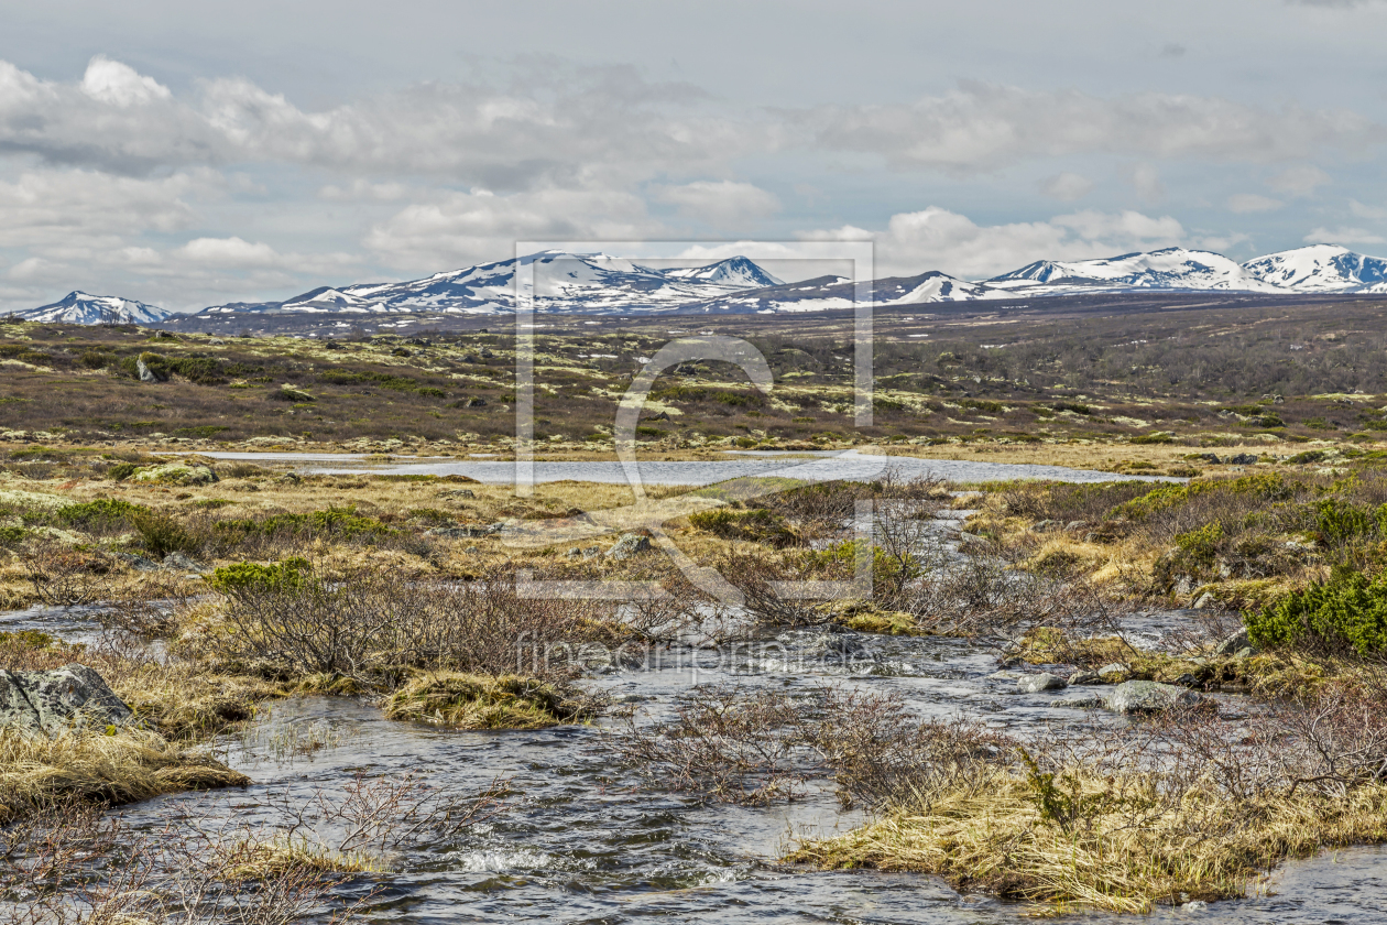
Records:
[[[125,725],[133,718],[130,707],[85,664],[51,671],[0,670],[0,728],[55,735],[72,728]]]

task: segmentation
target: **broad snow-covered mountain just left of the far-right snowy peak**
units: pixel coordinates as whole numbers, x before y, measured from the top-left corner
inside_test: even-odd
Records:
[[[1007,293],[1080,291],[1112,288],[1191,288],[1275,293],[1269,283],[1247,266],[1212,251],[1166,247],[1147,254],[1122,254],[1096,261],[1036,261],[983,283]]]

